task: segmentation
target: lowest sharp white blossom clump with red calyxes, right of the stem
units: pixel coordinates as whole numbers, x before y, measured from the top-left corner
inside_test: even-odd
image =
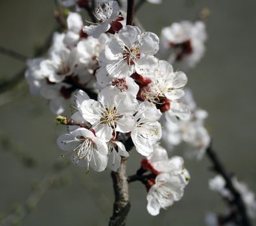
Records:
[[[190,179],[183,163],[179,156],[168,158],[167,150],[159,145],[155,145],[154,152],[141,161],[142,169],[154,175],[146,181],[146,209],[151,215],[159,214],[161,208],[166,209],[182,198]]]

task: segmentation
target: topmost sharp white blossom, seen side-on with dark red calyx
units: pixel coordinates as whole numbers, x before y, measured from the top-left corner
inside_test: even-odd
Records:
[[[118,32],[122,28],[122,21],[124,18],[120,16],[119,5],[117,1],[108,1],[104,6],[100,6],[95,10],[95,17],[99,23],[91,23],[89,26],[84,26],[83,32],[89,36],[98,38],[100,34],[110,30],[111,33]]]

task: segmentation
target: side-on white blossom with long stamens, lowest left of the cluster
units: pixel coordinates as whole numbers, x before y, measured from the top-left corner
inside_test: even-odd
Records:
[[[108,164],[108,147],[106,142],[97,138],[93,131],[77,128],[57,139],[58,146],[65,152],[72,152],[72,161],[82,167],[89,166],[95,171],[106,169]]]

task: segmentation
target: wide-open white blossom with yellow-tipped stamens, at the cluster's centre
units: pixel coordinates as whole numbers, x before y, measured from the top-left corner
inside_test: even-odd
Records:
[[[137,100],[128,92],[116,87],[104,88],[98,101],[84,100],[78,110],[95,130],[97,136],[109,141],[114,132],[130,132],[135,127],[133,114],[137,111]]]

